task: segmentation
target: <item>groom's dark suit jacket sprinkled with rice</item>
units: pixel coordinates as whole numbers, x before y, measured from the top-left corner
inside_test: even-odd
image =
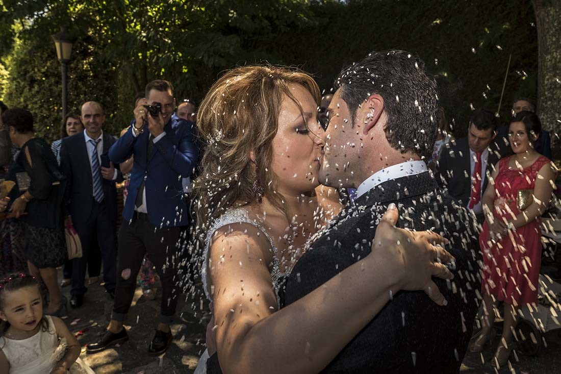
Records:
[[[448,305],[440,307],[423,291],[400,291],[324,372],[459,372],[477,312],[478,234],[475,218],[442,193],[430,172],[382,183],[344,209],[296,263],[285,302],[304,297],[370,254],[379,218],[392,202],[398,205],[398,226],[431,229],[450,240],[454,280],[435,280]]]

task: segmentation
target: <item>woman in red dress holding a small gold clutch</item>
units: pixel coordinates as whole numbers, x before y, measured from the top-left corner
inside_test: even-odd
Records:
[[[537,302],[540,217],[549,206],[557,173],[550,159],[534,149],[540,131],[540,119],[535,113],[518,113],[508,129],[514,154],[495,165],[491,183],[482,197],[485,223],[479,241],[484,264],[481,282],[484,315],[481,335],[471,350],[481,352],[491,340],[495,303],[503,301],[503,333],[494,356],[497,366],[504,365],[512,352],[517,309]],[[532,190],[534,197],[530,195],[526,204],[517,203],[520,190]]]

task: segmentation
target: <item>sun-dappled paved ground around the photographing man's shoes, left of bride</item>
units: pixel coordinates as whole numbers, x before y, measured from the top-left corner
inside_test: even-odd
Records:
[[[70,289],[67,287],[63,291],[70,298]],[[103,333],[111,315],[112,301],[103,286],[96,284],[89,286],[81,308],[69,310],[70,315],[65,321],[74,334],[82,334],[78,336],[82,347]],[[180,312],[171,326],[171,347],[162,357],[150,357],[148,345],[157,325],[159,298],[146,300],[137,288],[125,325],[130,340],[95,354],[86,355],[85,348],[82,348],[81,358],[98,374],[192,373],[205,349],[205,328],[199,322],[199,315],[195,316],[194,305],[182,300],[178,310]]]

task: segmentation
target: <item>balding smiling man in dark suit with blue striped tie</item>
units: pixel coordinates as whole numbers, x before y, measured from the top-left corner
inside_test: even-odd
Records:
[[[121,175],[107,152],[116,142],[103,133],[105,115],[101,104],[89,101],[81,108],[85,130],[68,136],[61,144],[61,170],[66,175],[66,203],[80,241],[82,257],[72,260],[72,298],[70,305],[79,308],[88,290],[84,285],[88,254],[99,243],[103,262],[105,290],[111,297],[116,284],[117,259],[117,189]],[[95,240],[97,239],[97,240]]]

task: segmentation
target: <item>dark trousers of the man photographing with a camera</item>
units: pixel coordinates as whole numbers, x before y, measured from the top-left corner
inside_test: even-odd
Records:
[[[111,315],[113,320],[125,321],[136,289],[136,276],[144,255],[148,253],[162,281],[162,303],[158,321],[173,321],[179,297],[177,264],[174,262],[181,230],[181,227],[154,227],[145,213],[135,212],[131,221],[123,220],[118,238],[117,288]]]

